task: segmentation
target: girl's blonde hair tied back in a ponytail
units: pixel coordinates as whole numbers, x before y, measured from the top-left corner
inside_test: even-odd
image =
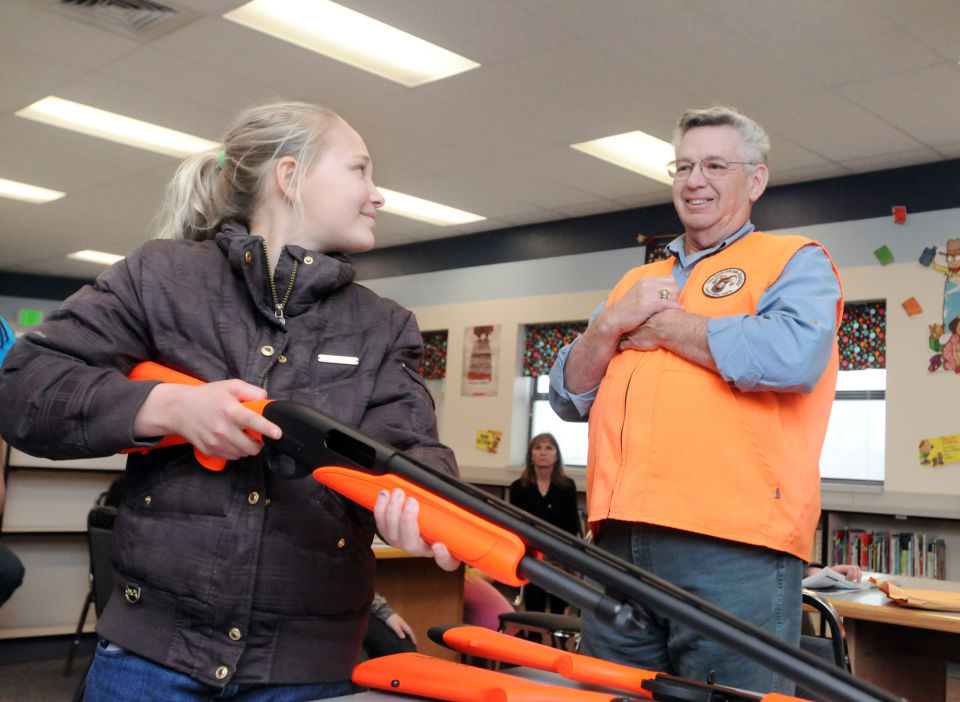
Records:
[[[343,120],[332,110],[305,102],[278,102],[241,112],[223,137],[223,149],[189,156],[167,184],[157,214],[161,239],[210,239],[224,222],[249,226],[260,204],[271,165],[284,156],[297,162],[292,185],[323,150],[324,136]]]

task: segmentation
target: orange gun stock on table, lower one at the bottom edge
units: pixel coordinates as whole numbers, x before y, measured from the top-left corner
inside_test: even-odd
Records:
[[[371,658],[353,669],[353,682],[379,690],[450,702],[611,702],[623,699],[609,693],[537,683],[421,653]]]

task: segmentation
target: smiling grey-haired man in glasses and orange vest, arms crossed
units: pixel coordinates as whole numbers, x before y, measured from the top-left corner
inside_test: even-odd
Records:
[[[684,234],[617,284],[561,350],[550,401],[589,415],[600,547],[793,643],[819,516],[842,290],[816,242],[754,230],[769,140],[729,108],[685,113],[670,164]],[[768,692],[792,684],[643,612],[624,637],[587,616],[589,653]]]

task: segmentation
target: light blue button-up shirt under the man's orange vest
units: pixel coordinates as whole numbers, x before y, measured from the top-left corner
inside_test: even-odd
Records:
[[[753,230],[748,220],[716,246],[690,256],[684,252],[684,235],[667,244],[667,251],[677,259],[671,275],[678,289],[683,290],[700,261]],[[760,296],[755,315],[715,317],[707,322],[707,344],[720,375],[744,392],[810,392],[830,360],[839,299],[840,283],[823,249],[802,247]],[[605,306],[606,300],[590,316],[590,323]],[[574,343],[560,349],[550,369],[550,406],[567,421],[585,419],[597,396],[596,387],[579,395],[563,387],[563,367]]]

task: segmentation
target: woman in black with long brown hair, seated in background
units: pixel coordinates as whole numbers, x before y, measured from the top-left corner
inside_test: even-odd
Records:
[[[563,457],[553,434],[538,434],[530,440],[523,474],[510,485],[510,503],[530,514],[580,535],[577,486],[563,472]],[[566,603],[533,583],[524,586],[524,609],[561,614]]]

